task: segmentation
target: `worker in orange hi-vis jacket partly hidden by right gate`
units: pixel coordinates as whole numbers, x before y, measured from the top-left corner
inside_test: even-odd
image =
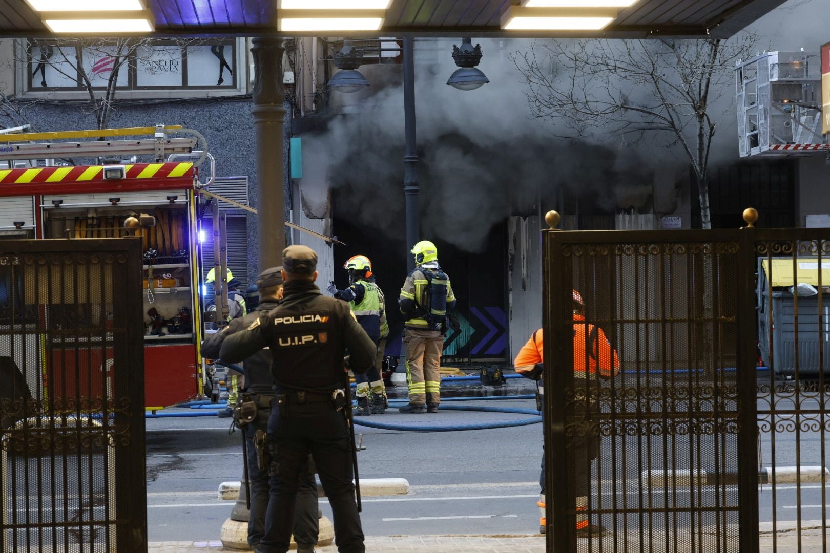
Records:
[[[574,290],[574,376],[579,379],[588,379],[596,384],[600,379],[611,378],[619,373],[619,359],[617,352],[608,342],[605,332],[591,323],[585,323],[585,306],[582,296]],[[583,323],[578,323],[578,322]],[[542,329],[535,331],[521,348],[516,356],[513,365],[516,372],[530,380],[540,381],[543,371],[543,339]],[[544,400],[544,386],[540,381],[540,396]],[[569,443],[569,449],[574,451],[576,471],[574,484],[577,491],[576,508],[578,511],[588,510],[588,494],[591,491],[591,461],[597,458],[599,451],[599,439],[591,436],[574,436]],[[538,505],[540,507],[540,532],[544,534],[547,521],[544,517],[544,453],[542,454],[542,471],[539,477],[541,495]],[[608,531],[601,525],[591,525],[587,514],[577,515],[577,536],[598,537],[605,535]]]

